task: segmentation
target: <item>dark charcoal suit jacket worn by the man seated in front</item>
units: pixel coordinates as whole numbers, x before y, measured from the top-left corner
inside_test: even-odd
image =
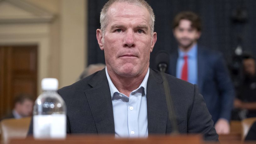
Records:
[[[217,140],[211,115],[197,87],[167,75],[181,133],[204,133]],[[114,134],[114,116],[105,69],[58,90],[67,105],[67,132]],[[160,72],[150,69],[147,81],[148,134],[170,133],[171,124]],[[32,133],[32,125],[30,132]]]

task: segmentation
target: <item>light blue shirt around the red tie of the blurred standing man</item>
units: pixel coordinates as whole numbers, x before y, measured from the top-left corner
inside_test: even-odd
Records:
[[[181,71],[184,64],[184,56],[187,55],[188,82],[192,84],[198,84],[197,49],[197,44],[195,44],[187,53],[184,53],[180,49],[178,49],[179,57],[176,65],[176,77],[179,79],[181,78]]]

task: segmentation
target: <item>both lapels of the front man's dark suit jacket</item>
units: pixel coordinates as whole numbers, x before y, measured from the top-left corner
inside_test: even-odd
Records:
[[[149,134],[165,134],[168,110],[161,75],[150,69],[147,80],[147,124]],[[114,134],[114,115],[109,84],[105,69],[89,82],[91,89],[85,91],[98,133]]]

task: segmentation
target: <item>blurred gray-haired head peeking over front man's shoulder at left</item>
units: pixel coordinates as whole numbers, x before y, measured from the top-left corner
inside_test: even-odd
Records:
[[[82,72],[82,74],[79,76],[78,80],[81,80],[83,78],[85,78],[86,76],[92,75],[93,73],[102,70],[106,67],[105,64],[90,64],[89,66],[87,66],[87,68],[85,68],[85,70]]]

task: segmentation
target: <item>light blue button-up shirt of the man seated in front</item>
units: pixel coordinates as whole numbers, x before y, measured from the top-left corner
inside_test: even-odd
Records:
[[[120,93],[106,75],[112,97],[115,137],[147,137],[147,79],[149,69],[141,85],[127,97]]]

